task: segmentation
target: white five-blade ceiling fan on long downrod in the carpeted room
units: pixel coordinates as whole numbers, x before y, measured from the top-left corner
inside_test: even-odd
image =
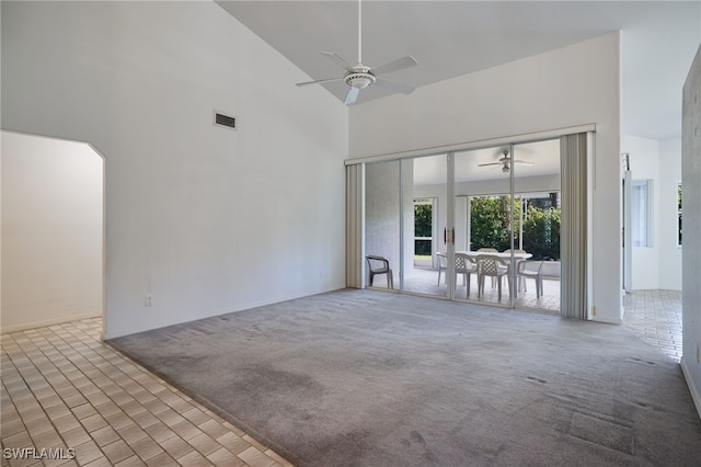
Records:
[[[412,91],[414,91],[414,88],[412,87],[400,84],[398,82],[389,81],[384,78],[379,77],[379,75],[382,73],[388,73],[390,71],[397,71],[418,65],[416,59],[414,59],[414,57],[412,57],[411,55],[399,58],[394,61],[390,61],[389,64],[381,65],[379,67],[368,67],[367,65],[363,65],[363,10],[360,2],[361,0],[358,0],[358,64],[353,66],[332,52],[322,52],[321,54],[323,56],[341,65],[343,69],[346,70],[344,76],[341,78],[298,82],[297,86],[344,81],[349,86],[348,93],[346,94],[346,99],[344,101],[346,105],[355,103],[355,101],[358,99],[358,93],[360,92],[360,90],[371,84],[378,84],[382,88],[389,88],[403,94],[410,94],[412,93]]]

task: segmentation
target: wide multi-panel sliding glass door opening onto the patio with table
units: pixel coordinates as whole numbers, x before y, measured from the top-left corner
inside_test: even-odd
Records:
[[[365,252],[386,260],[368,286],[559,310],[559,140],[367,163],[365,180]]]

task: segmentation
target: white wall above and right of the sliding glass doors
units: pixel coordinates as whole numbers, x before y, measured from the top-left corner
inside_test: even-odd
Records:
[[[619,35],[609,34],[420,88],[409,96],[356,105],[349,111],[350,156],[596,124],[593,305],[596,320],[621,322],[621,263],[611,261],[620,258],[619,100]]]

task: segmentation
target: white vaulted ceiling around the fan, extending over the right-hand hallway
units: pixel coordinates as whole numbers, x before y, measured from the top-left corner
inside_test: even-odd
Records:
[[[357,1],[217,3],[312,79],[343,75],[319,52],[357,61]],[[387,78],[422,87],[613,31],[622,31],[623,132],[653,139],[680,137],[681,88],[701,43],[701,0],[364,0],[363,62],[376,67],[412,55],[418,67]],[[290,92],[304,92],[294,84]],[[344,83],[324,86],[343,101]],[[358,104],[390,92],[367,88]]]

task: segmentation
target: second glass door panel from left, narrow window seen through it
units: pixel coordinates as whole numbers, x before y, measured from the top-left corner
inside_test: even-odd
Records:
[[[402,161],[402,289],[448,297],[446,282],[447,156],[427,156]]]

